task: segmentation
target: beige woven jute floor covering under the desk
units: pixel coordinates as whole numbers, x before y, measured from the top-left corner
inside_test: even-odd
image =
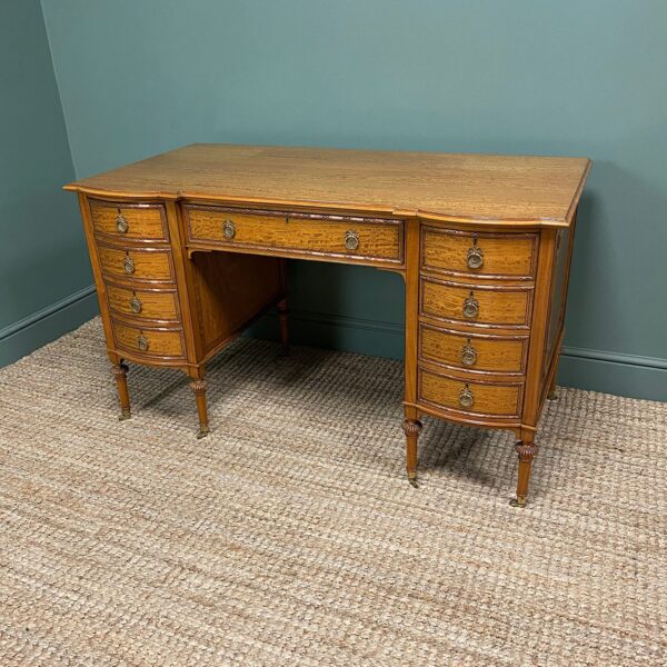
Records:
[[[665,665],[667,409],[563,389],[511,435],[425,422],[402,368],[240,339],[195,438],[99,320],[0,371],[0,665]]]

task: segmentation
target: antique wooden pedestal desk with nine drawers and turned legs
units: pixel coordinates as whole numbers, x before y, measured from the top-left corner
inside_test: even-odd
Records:
[[[205,436],[206,362],[276,305],[287,348],[285,258],[372,266],[405,278],[408,479],[416,486],[421,415],[509,429],[525,505],[589,168],[585,158],[192,145],[67,186],[121,418],[126,360],[176,367],[192,380]]]

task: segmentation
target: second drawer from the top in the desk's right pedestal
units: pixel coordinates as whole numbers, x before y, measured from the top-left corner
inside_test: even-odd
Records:
[[[498,327],[526,327],[532,289],[447,282],[422,278],[420,312],[435,318]]]

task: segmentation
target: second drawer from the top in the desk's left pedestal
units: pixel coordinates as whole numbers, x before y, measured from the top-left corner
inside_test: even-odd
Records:
[[[102,273],[135,280],[173,280],[171,250],[98,245]]]

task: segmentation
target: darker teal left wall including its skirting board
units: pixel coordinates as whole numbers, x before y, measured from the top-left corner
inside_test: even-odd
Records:
[[[0,365],[88,319],[90,263],[39,0],[0,16]]]

